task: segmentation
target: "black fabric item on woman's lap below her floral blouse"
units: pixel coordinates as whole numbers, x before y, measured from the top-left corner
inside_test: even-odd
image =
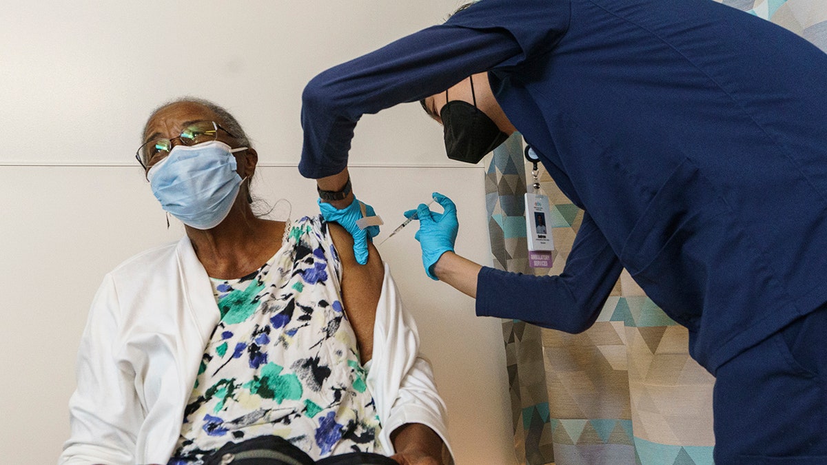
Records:
[[[378,453],[352,452],[314,462],[308,454],[277,436],[261,436],[241,443],[227,443],[209,457],[205,465],[399,465]]]

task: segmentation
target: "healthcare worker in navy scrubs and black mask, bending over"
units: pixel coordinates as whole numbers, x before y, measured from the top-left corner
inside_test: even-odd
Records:
[[[304,90],[299,170],[356,242],[356,122],[423,98],[449,157],[517,130],[586,210],[562,274],[523,276],[455,254],[436,195],[429,276],[578,332],[625,267],[717,378],[716,463],[827,463],[827,55],[711,0],[482,0]]]

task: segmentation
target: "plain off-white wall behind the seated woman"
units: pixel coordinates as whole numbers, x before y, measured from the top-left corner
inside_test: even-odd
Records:
[[[314,74],[441,22],[454,0],[5,2],[0,14],[0,461],[54,463],[88,304],[103,275],[183,230],[132,158],[167,99],[227,106],[260,154],[258,193],[314,214],[295,166],[300,94]],[[361,198],[390,223],[433,190],[457,201],[457,249],[488,263],[480,167],[448,161],[418,105],[363,118]],[[254,186],[255,188],[255,186]],[[281,205],[277,213],[281,211]],[[458,463],[514,463],[500,323],[423,273],[415,226],[380,247],[418,320],[447,401]],[[380,237],[381,238],[381,237]]]

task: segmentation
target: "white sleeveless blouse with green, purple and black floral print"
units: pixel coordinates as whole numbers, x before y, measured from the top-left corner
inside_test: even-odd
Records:
[[[342,309],[341,263],[320,217],[289,223],[279,252],[236,280],[211,278],[221,312],[170,465],[200,464],[266,434],[314,459],[382,453],[375,404]]]

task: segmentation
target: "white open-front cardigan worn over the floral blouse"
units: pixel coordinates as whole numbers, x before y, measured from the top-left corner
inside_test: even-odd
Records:
[[[110,272],[80,343],[78,386],[69,400],[71,436],[58,463],[167,463],[219,319],[212,285],[188,237]],[[406,423],[428,425],[448,445],[445,404],[418,351],[416,324],[385,264],[366,369],[382,424],[379,439],[389,455],[390,433]]]

